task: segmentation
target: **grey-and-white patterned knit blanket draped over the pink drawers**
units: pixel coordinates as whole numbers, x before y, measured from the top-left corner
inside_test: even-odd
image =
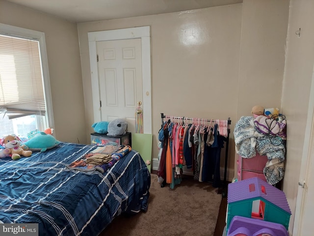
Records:
[[[281,137],[260,133],[254,125],[254,117],[241,117],[235,124],[235,151],[244,158],[267,156],[263,169],[269,184],[278,183],[285,174],[285,146]]]

